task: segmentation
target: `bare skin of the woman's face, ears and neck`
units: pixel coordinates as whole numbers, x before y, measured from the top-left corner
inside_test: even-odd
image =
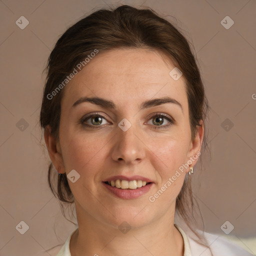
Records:
[[[114,49],[99,52],[64,88],[59,141],[51,136],[50,127],[44,138],[56,169],[66,174],[75,169],[80,174],[74,183],[68,179],[79,227],[70,240],[72,256],[183,255],[183,239],[173,223],[175,199],[189,169],[180,172],[154,202],[148,200],[200,151],[203,138],[202,125],[191,140],[185,80],[183,76],[172,79],[173,67],[158,51]],[[72,107],[82,96],[112,100],[116,109],[89,102]],[[138,109],[142,101],[163,96],[179,101],[182,110],[174,103]],[[101,126],[94,124],[93,129],[78,123],[85,114],[95,112],[105,118]],[[174,123],[155,128],[169,123],[167,119],[157,122],[156,112],[165,113]],[[125,132],[118,127],[123,118],[131,123]],[[93,126],[91,121],[85,123]],[[141,175],[154,183],[138,198],[121,199],[102,185],[112,175]],[[125,234],[118,229],[123,221],[131,226]]]

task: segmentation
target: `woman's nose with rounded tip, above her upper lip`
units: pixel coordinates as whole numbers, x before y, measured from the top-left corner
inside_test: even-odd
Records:
[[[126,131],[117,126],[116,135],[113,137],[112,159],[125,164],[140,162],[145,156],[145,145],[142,141],[135,125],[131,125]]]

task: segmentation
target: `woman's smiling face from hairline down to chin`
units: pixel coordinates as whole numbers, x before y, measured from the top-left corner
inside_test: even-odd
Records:
[[[162,56],[146,49],[99,51],[65,86],[58,152],[51,158],[68,177],[72,170],[77,218],[135,227],[174,216],[189,170],[182,164],[198,158],[202,134],[191,141],[184,77],[174,80],[169,72],[175,66]],[[172,102],[144,103],[164,97]],[[116,179],[116,186],[132,188],[103,182]],[[134,188],[141,181],[130,180],[151,183]]]

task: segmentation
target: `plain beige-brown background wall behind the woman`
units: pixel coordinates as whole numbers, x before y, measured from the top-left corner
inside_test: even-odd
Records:
[[[195,166],[194,195],[205,231],[256,253],[255,0],[1,0],[0,256],[44,255],[75,228],[47,185],[38,125],[42,70],[69,25],[110,3],[150,6],[194,44],[211,106],[211,155],[203,154],[201,171]],[[15,24],[22,15],[24,29]],[[234,21],[229,29],[220,23],[226,15]],[[228,235],[220,228],[226,220],[234,226]],[[15,228],[20,221],[29,226],[24,234]]]

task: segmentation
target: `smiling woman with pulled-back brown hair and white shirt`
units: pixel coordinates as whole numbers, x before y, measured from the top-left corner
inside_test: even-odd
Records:
[[[47,68],[49,184],[54,165],[58,198],[74,201],[78,223],[57,256],[250,255],[227,240],[208,248],[174,223],[176,213],[191,224],[207,100],[171,23],[128,5],[98,10],[64,32]]]

